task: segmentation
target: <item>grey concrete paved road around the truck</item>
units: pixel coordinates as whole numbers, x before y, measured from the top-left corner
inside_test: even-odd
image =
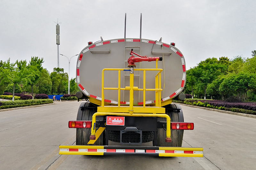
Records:
[[[255,169],[256,119],[182,106],[184,147],[203,147],[204,158],[59,155],[59,144],[74,144],[81,102],[0,112],[0,169]]]

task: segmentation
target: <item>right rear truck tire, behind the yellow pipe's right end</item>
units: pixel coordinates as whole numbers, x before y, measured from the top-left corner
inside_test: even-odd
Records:
[[[184,122],[182,109],[179,104],[169,104],[164,106],[165,113],[170,116],[171,122]],[[180,112],[178,110],[171,110],[173,108],[180,108]],[[157,121],[166,122],[166,118],[158,117]],[[171,147],[181,147],[183,140],[183,132],[184,130],[172,130],[171,129],[171,142],[165,142],[166,138],[166,127],[157,129],[157,138],[156,138],[156,146],[171,146]]]

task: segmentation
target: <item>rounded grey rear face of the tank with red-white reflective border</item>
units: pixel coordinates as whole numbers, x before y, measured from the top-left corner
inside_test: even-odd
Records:
[[[88,97],[101,100],[101,72],[104,68],[127,67],[127,60],[133,52],[148,57],[163,57],[158,61],[161,73],[162,102],[179,95],[186,83],[185,59],[180,50],[170,44],[160,41],[122,38],[107,41],[98,41],[85,47],[77,58],[76,83]],[[135,56],[135,55],[134,55]],[[156,62],[135,63],[138,68],[156,68]],[[121,88],[130,86],[129,71],[121,71]],[[146,71],[146,88],[155,88],[157,71]],[[143,89],[143,71],[134,71],[134,86]],[[118,87],[118,71],[104,72],[104,87]],[[117,104],[118,91],[104,90],[104,99],[108,103]],[[128,104],[129,91],[121,91],[121,105]],[[155,103],[155,92],[146,91],[146,104]],[[143,105],[143,91],[134,91],[134,106]]]

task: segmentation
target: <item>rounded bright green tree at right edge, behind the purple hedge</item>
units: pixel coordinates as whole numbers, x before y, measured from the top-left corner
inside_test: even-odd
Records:
[[[256,74],[240,72],[231,73],[220,84],[221,92],[233,92],[241,95],[243,101],[247,101],[247,91],[256,88]]]

